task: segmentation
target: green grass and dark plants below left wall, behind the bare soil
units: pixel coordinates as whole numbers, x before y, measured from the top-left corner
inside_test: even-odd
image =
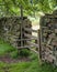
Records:
[[[29,56],[31,51],[27,49],[21,49],[20,51],[18,51],[9,43],[4,42],[3,40],[0,40],[0,55],[4,55],[7,53],[10,53],[10,56],[15,59],[19,56]]]

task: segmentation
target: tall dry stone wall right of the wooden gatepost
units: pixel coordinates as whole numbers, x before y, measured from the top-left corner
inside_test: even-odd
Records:
[[[57,14],[46,14],[41,21],[42,60],[57,65]]]

